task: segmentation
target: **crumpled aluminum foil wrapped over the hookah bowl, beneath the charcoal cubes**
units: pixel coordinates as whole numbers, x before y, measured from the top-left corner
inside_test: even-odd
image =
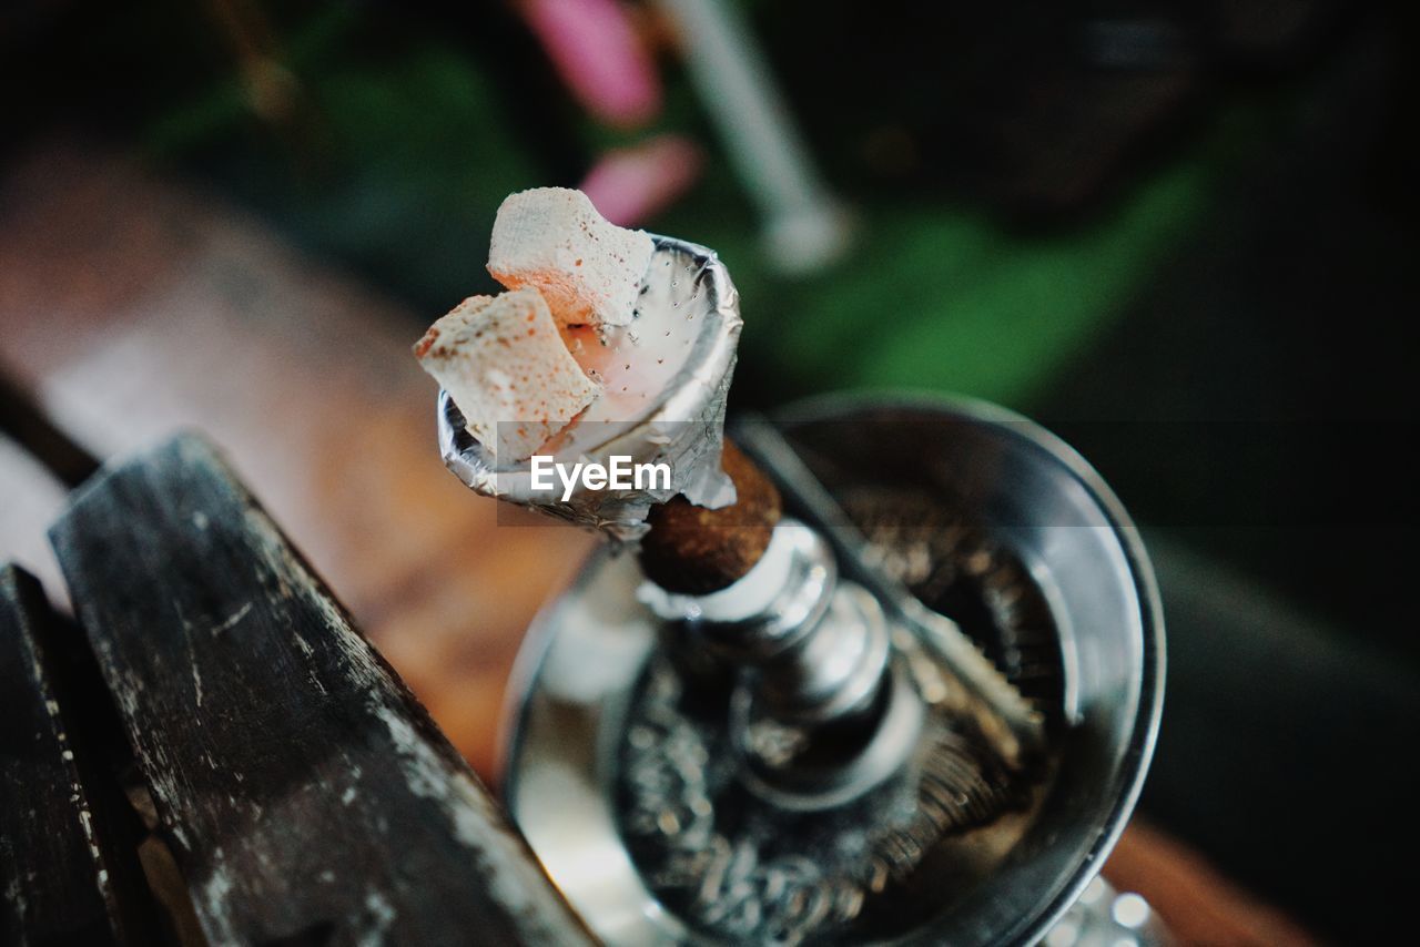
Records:
[[[652,237],[656,251],[642,280],[636,315],[626,327],[588,336],[572,354],[602,395],[540,453],[568,467],[578,461],[670,466],[669,488],[589,490],[567,500],[532,488],[530,461],[500,466],[464,427],[463,415],[439,392],[439,449],[444,464],[476,493],[541,510],[629,542],[648,530],[653,504],[683,493],[717,510],[734,503],[734,484],[720,470],[726,395],[740,341],[740,294],[713,250]]]

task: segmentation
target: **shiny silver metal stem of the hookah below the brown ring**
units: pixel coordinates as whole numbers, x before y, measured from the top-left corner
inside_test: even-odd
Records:
[[[781,521],[754,568],[719,592],[673,595],[646,582],[640,601],[665,622],[682,673],[699,667],[693,677],[710,693],[714,677],[734,677],[723,724],[757,795],[794,811],[831,808],[912,758],[924,703],[892,674],[878,599],[838,579],[814,530]],[[859,738],[845,740],[846,730]]]

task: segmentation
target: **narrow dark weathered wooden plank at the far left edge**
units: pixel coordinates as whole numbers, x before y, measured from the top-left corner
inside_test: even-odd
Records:
[[[87,740],[60,629],[38,581],[0,568],[0,943],[153,943],[132,814]]]

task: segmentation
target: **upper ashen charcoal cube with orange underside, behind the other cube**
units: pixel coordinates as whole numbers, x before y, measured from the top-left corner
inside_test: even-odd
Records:
[[[488,273],[510,290],[541,290],[562,325],[601,331],[630,324],[653,251],[643,230],[609,223],[582,192],[535,187],[498,207]]]

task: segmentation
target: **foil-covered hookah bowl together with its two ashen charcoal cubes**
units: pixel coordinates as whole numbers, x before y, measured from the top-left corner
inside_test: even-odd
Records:
[[[488,270],[511,291],[467,300],[415,346],[460,480],[619,541],[677,494],[734,503],[720,453],[740,304],[713,251],[544,187],[503,203]],[[665,476],[564,480],[640,467]]]

